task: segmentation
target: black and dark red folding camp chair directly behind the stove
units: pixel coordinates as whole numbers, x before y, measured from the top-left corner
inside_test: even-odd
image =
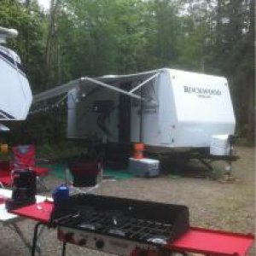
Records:
[[[100,163],[73,163],[68,165],[72,175],[72,193],[96,192],[102,183],[103,169]],[[66,183],[68,177],[66,175]]]

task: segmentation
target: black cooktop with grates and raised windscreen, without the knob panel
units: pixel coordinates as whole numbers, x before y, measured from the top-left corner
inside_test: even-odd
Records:
[[[72,200],[76,211],[59,214],[54,218],[56,225],[154,244],[173,241],[189,228],[189,211],[184,206],[100,195],[79,195],[79,200]],[[165,216],[161,216],[163,210]]]

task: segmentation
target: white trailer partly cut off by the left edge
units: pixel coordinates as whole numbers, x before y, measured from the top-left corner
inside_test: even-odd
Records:
[[[16,37],[14,29],[0,27],[0,44]],[[32,91],[20,65],[20,57],[0,45],[0,120],[24,120],[32,104]]]

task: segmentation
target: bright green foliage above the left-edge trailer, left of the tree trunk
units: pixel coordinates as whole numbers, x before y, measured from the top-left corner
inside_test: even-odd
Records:
[[[14,0],[2,0],[0,5],[0,25],[18,30],[19,37],[9,40],[9,47],[17,51],[30,78],[32,90],[42,88],[44,71],[44,14],[38,4],[32,2],[29,9]]]

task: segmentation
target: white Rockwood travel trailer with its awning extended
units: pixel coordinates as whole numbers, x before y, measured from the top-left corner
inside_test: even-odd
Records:
[[[230,154],[236,119],[224,77],[169,68],[84,77],[35,96],[34,103],[63,93],[69,138]]]

